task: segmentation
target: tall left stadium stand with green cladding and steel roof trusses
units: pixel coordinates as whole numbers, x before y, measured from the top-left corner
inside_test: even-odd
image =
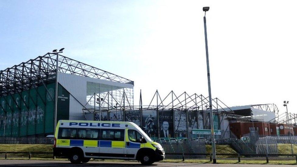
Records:
[[[0,71],[0,137],[53,134],[56,57],[47,53]],[[123,89],[133,103],[131,80],[61,54],[58,71],[57,121],[85,119],[83,109],[90,106],[86,101],[90,90],[104,94]],[[96,91],[88,87],[96,84],[100,85]],[[101,90],[102,85],[110,89]]]

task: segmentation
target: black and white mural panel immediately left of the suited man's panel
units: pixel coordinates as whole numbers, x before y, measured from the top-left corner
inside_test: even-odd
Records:
[[[158,122],[156,110],[142,111],[142,129],[152,139],[158,138]]]

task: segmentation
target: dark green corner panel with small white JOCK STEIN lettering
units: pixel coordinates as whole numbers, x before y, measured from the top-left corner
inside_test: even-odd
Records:
[[[58,86],[58,120],[69,120],[69,96],[70,93],[59,84]]]

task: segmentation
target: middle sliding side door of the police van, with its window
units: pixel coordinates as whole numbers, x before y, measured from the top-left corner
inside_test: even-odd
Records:
[[[100,157],[123,159],[125,156],[124,129],[101,129],[99,141]]]

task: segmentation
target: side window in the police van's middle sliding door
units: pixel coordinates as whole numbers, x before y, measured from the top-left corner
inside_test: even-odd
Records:
[[[101,129],[100,140],[124,141],[124,129]]]

